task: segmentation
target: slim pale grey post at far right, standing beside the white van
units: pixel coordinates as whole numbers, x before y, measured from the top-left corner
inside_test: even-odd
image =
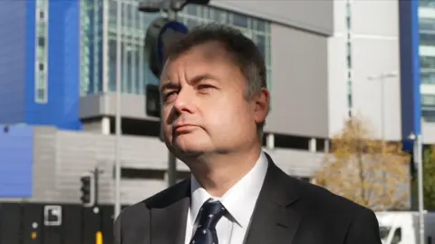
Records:
[[[414,143],[414,156],[418,168],[420,244],[424,244],[423,142],[421,134],[416,136]]]

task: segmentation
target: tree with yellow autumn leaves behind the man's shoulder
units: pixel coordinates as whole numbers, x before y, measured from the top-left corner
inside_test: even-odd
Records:
[[[333,138],[314,181],[372,210],[404,210],[410,202],[409,162],[401,144],[373,140],[367,123],[352,118]]]

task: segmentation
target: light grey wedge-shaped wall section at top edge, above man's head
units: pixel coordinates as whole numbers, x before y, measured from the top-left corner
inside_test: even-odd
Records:
[[[211,5],[325,35],[333,34],[333,0],[212,0]]]

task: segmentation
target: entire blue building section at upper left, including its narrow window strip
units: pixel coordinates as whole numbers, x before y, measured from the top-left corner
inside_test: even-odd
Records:
[[[80,130],[79,3],[2,1],[0,121]]]

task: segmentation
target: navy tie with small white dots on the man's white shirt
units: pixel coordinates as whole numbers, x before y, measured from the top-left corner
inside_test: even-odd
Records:
[[[206,201],[198,212],[198,227],[190,244],[218,244],[216,224],[226,210],[218,200]]]

